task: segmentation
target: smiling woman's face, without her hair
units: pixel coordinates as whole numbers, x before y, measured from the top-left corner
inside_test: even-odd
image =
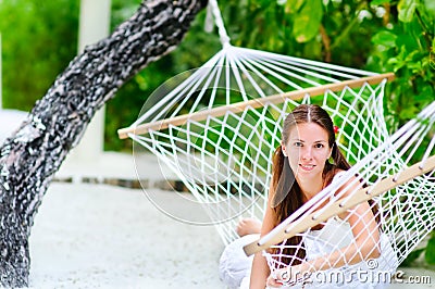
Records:
[[[322,176],[332,149],[327,131],[315,123],[297,124],[290,129],[287,143],[282,143],[284,155],[297,178]]]

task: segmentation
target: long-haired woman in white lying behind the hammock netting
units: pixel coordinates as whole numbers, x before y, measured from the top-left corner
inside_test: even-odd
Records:
[[[349,167],[335,142],[334,125],[330,115],[319,105],[297,106],[284,121],[282,143],[274,154],[272,181],[260,229],[261,236],[270,233]],[[356,179],[350,179],[343,187],[347,185],[352,186],[349,191],[362,187],[361,181]],[[340,189],[337,193],[339,192]],[[321,208],[325,203],[322,203]],[[273,257],[268,259],[268,265],[264,255],[261,252],[257,253],[253,256],[252,267],[249,268],[251,269],[249,288],[282,287],[287,281],[295,281],[298,276],[291,274],[296,272],[306,274],[343,266],[347,269],[349,266],[364,269],[365,262],[378,260],[381,253],[384,259],[387,255],[385,260],[390,260],[380,262],[381,269],[393,273],[397,267],[396,256],[388,239],[381,236],[375,216],[376,208],[371,202],[364,202],[311,228],[306,235],[288,239],[283,252],[284,262],[279,260],[285,266],[274,266],[276,260]],[[245,221],[240,226],[245,225],[248,228],[239,228],[239,231],[256,233],[258,225],[254,224],[253,221]],[[346,242],[331,243],[331,238],[334,236],[330,236],[328,233],[335,229],[338,229],[335,235],[348,236]],[[330,240],[330,243],[316,241],[322,238]],[[271,272],[271,265],[274,272]],[[353,280],[355,277],[352,276],[350,280],[352,287],[359,285],[358,280]],[[246,278],[244,281],[246,286]],[[374,286],[380,284],[378,279],[371,281]],[[361,286],[368,288],[366,282],[361,282]]]

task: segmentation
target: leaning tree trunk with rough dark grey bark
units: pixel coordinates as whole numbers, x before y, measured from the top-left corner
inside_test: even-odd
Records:
[[[0,150],[0,282],[28,284],[28,237],[53,174],[88,123],[148,63],[174,49],[206,0],[145,1],[108,38],[85,49]]]

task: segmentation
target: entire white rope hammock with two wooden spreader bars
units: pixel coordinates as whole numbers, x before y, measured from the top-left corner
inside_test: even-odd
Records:
[[[352,265],[344,268],[325,254],[353,242],[346,234],[352,230],[348,219],[337,216],[361,214],[356,208],[371,199],[382,234],[369,238],[382,251],[378,268],[394,273],[435,225],[435,102],[389,136],[383,99],[393,74],[234,47],[216,2],[209,8],[222,50],[183,81],[166,83],[164,95],[120,129],[120,137],[166,164],[228,244],[238,238],[239,217],[263,217],[284,118],[299,104],[319,104],[339,127],[336,143],[352,167],[245,251],[263,251],[272,273],[320,254],[323,263],[311,271],[340,266],[349,272]],[[357,175],[366,187],[355,189]],[[327,230],[311,230],[319,224]],[[289,244],[295,236],[302,241]],[[319,242],[327,249],[315,249]],[[361,254],[341,253],[348,260]]]

